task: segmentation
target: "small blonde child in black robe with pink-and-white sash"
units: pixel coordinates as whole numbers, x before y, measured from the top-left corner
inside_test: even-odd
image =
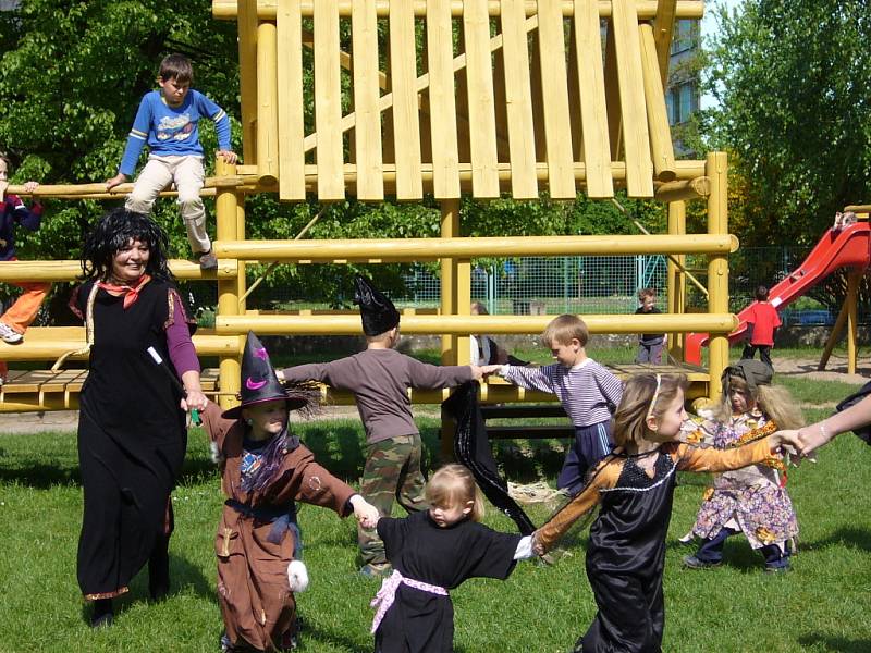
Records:
[[[483,500],[462,465],[432,475],[426,496],[429,510],[378,521],[393,575],[372,601],[376,653],[450,653],[454,607],[447,590],[476,576],[504,580],[516,560],[532,555],[530,537],[478,523]]]

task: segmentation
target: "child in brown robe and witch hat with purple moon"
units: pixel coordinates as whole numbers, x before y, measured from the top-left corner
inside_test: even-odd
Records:
[[[266,348],[248,332],[241,405],[221,412],[210,403],[203,415],[228,497],[216,539],[224,651],[293,645],[294,592],[308,586],[295,502],[329,507],[342,517],[353,510],[365,525],[378,517],[290,430],[291,411],[311,415],[318,397],[317,389],[285,389]]]

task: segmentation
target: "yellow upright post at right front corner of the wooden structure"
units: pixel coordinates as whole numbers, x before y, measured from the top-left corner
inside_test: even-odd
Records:
[[[725,152],[709,152],[706,176],[711,180],[708,197],[708,233],[728,233],[728,163]],[[708,258],[708,312],[726,313],[728,310],[728,258],[713,255]],[[708,368],[711,377],[710,396],[719,399],[723,392],[720,377],[728,366],[728,335],[711,334],[708,347]]]

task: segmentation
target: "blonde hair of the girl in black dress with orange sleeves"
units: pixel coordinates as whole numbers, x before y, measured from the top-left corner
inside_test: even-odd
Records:
[[[633,374],[623,389],[623,398],[614,412],[614,442],[640,444],[647,440],[647,417],[659,421],[678,393],[689,385],[684,374]]]

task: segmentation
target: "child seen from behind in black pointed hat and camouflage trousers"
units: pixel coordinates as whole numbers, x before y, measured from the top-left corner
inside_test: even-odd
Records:
[[[332,362],[287,368],[290,381],[322,381],[354,393],[366,431],[366,465],[360,492],[382,517],[389,517],[394,497],[408,513],[426,509],[420,469],[420,433],[412,417],[408,389],[452,387],[481,378],[478,366],[437,366],[420,362],[394,349],[400,340],[400,313],[368,279],[355,280],[354,301],[360,307],[366,350]],[[384,544],[372,529],[358,530],[364,576],[390,574]]]

